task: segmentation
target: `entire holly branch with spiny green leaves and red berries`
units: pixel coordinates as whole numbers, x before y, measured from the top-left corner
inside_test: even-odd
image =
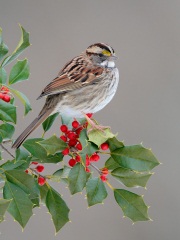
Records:
[[[150,149],[141,144],[126,146],[108,127],[103,132],[92,128],[91,123],[96,120],[91,113],[84,119],[61,119],[59,132],[45,138],[45,133],[51,130],[58,116],[54,114],[42,124],[42,137],[27,139],[15,153],[5,146],[6,142],[14,141],[17,98],[25,107],[25,115],[32,109],[27,97],[17,90],[18,87],[14,88],[29,78],[28,60],[17,60],[30,46],[29,33],[22,26],[20,29],[20,42],[8,56],[9,50],[0,29],[0,181],[3,185],[0,222],[9,212],[24,228],[34,208],[45,204],[58,232],[69,222],[69,207],[51,186],[52,182],[64,183],[72,195],[84,192],[89,207],[102,203],[108,196],[109,187],[124,216],[133,222],[150,220],[143,197],[127,188],[145,188],[152,169],[159,165],[158,160]],[[12,62],[14,65],[7,73],[6,66]],[[3,159],[5,152],[10,160]],[[102,156],[107,156],[106,161]],[[45,163],[56,164],[56,171],[44,174]],[[112,179],[117,180],[120,188],[112,186]],[[119,214],[122,215],[121,212]]]

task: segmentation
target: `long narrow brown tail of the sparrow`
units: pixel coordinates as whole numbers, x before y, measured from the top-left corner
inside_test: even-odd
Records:
[[[21,133],[21,135],[13,143],[12,148],[19,148],[24,140],[31,134],[46,118],[51,114],[52,111],[46,111],[44,114],[39,115],[34,121]]]

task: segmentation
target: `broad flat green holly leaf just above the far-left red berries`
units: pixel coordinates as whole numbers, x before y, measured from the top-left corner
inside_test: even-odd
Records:
[[[19,60],[9,74],[9,85],[22,82],[29,78],[29,63],[27,59]]]

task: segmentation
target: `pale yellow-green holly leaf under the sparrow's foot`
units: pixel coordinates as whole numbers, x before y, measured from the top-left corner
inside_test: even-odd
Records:
[[[88,130],[91,129],[91,125],[88,125]],[[106,142],[109,138],[114,138],[115,135],[111,132],[109,128],[100,131],[98,129],[93,129],[88,133],[88,138],[90,142],[93,142],[98,147],[104,142]]]

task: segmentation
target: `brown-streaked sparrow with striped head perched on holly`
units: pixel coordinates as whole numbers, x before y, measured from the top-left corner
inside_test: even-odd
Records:
[[[15,140],[12,148],[19,148],[54,113],[83,118],[86,113],[103,109],[112,100],[118,87],[116,59],[111,46],[95,43],[69,61],[37,98],[46,97],[45,104],[39,115]]]

